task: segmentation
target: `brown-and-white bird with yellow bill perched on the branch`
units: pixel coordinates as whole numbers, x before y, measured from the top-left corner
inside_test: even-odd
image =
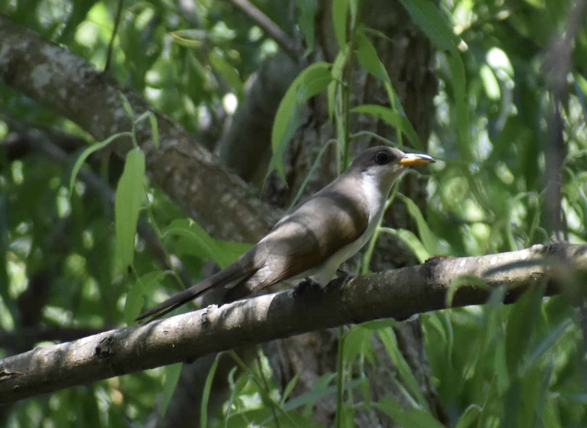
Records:
[[[234,263],[143,312],[159,318],[217,287],[227,300],[255,294],[285,280],[306,278],[325,287],[340,264],[370,239],[393,183],[411,166],[435,162],[426,154],[379,145],[367,148],[330,184],[299,203]]]

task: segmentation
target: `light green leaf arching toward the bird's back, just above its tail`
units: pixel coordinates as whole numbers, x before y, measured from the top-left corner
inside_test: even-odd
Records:
[[[204,229],[187,219],[176,219],[167,229],[167,235],[177,235],[189,240],[194,256],[214,260],[220,269],[225,269],[231,264],[231,259],[222,251],[217,242]],[[184,247],[185,248],[185,247]]]

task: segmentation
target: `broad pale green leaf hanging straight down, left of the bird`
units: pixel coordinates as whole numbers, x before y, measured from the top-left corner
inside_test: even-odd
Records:
[[[126,155],[124,170],[116,188],[114,223],[116,224],[116,249],[123,269],[133,264],[134,235],[139,220],[139,210],[144,193],[145,155],[140,148],[133,148]]]

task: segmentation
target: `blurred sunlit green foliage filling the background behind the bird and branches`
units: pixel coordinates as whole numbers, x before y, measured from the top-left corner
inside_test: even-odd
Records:
[[[231,2],[126,2],[109,73],[217,151],[227,165],[243,163],[244,157],[231,161],[231,150],[223,147],[231,147],[230,140],[241,141],[239,131],[258,120],[248,131],[258,137],[253,139],[265,141],[263,149],[255,149],[262,162],[246,179],[260,187],[270,157],[271,108],[247,116],[247,111],[235,114],[232,106],[237,102],[248,110],[243,106],[249,106],[257,85],[261,104],[266,101],[275,109],[274,97],[283,96],[300,70],[320,60],[335,62],[342,46],[333,27],[340,19],[337,11],[348,3],[255,2],[299,47],[299,52],[275,55],[279,47],[274,39]],[[352,15],[359,18],[349,23],[349,39],[359,37],[360,25],[365,26],[364,34],[376,47],[401,102],[401,107],[393,106],[395,111],[405,111],[427,151],[438,159],[428,177],[404,178],[400,192],[416,204],[396,196],[384,224],[394,229],[382,233],[370,269],[404,266],[433,254],[504,252],[548,243],[552,236],[585,243],[584,2],[444,1],[434,9],[437,14],[426,1],[404,0],[391,11],[379,2],[363,3],[360,13]],[[427,20],[419,20],[414,8],[427,10]],[[106,65],[116,22],[114,2],[6,1],[0,11],[98,69]],[[458,35],[458,49],[443,45],[450,37],[430,43],[424,35],[442,25]],[[399,36],[386,26],[400,28]],[[463,76],[455,73],[457,56]],[[413,57],[417,60],[410,62]],[[352,81],[345,80],[350,107],[393,104],[381,76],[373,77],[373,62],[351,64],[341,74],[341,79],[349,79],[352,69]],[[267,85],[261,76],[275,83]],[[465,100],[459,98],[461,86]],[[51,106],[39,106],[4,84],[0,88],[0,244],[6,257],[6,263],[0,263],[0,345],[2,355],[12,355],[43,342],[123,325],[124,301],[135,280],[120,274],[113,257],[114,213],[108,193],[79,181],[68,195],[73,162],[92,137]],[[343,92],[339,96],[344,99]],[[459,110],[463,102],[468,117]],[[265,199],[282,208],[302,187],[321,148],[345,135],[337,129],[343,122],[328,120],[324,93],[300,108],[299,128],[284,152],[288,186],[274,174],[263,190]],[[341,120],[345,110],[336,113]],[[351,133],[368,130],[410,146],[406,135],[383,120],[366,118],[373,112],[364,113],[350,114]],[[372,135],[357,135],[350,141],[351,153],[375,142]],[[59,155],[56,147],[62,150]],[[306,192],[341,168],[340,155],[332,147]],[[104,184],[116,188],[123,162],[109,149],[92,155],[87,164]],[[551,191],[546,191],[548,186]],[[184,218],[164,189],[149,186],[148,193],[153,215],[143,212],[140,228],[148,230],[146,220],[155,219],[165,231],[173,220]],[[422,213],[428,226],[421,221]],[[152,240],[148,232],[140,234],[133,269],[145,283],[158,278],[150,287],[153,301],[159,301],[164,290],[177,290],[177,284],[171,276],[160,275],[167,266],[153,251]],[[200,278],[212,269],[186,240],[167,237],[165,243],[181,260],[185,276]],[[219,245],[233,256],[242,250],[236,244]],[[353,259],[350,269],[359,269],[359,259]],[[360,426],[409,427],[433,424],[436,417],[450,426],[584,426],[584,280],[573,278],[566,283],[566,293],[548,299],[538,290],[505,306],[497,293],[483,307],[422,314],[417,322],[394,325],[393,330],[392,321],[348,328],[341,376],[354,393],[345,395],[342,406],[339,403],[339,422],[350,426],[354,418]],[[408,330],[416,343],[421,339],[425,352],[406,345]],[[283,364],[284,373],[276,372],[279,365],[268,364],[271,349],[265,348],[269,360],[249,360],[251,373],[243,368],[244,375],[231,371],[231,360],[228,400],[236,416],[227,417],[229,424],[245,425],[240,416],[275,423],[275,404],[269,398],[283,399],[289,409],[285,398],[292,390],[306,405],[289,415],[299,426],[332,423],[336,403],[319,398],[333,397],[337,348],[336,340],[324,335],[323,342],[302,338],[321,345],[332,342],[322,356],[328,364],[299,372],[303,388],[294,388],[298,378],[288,373],[294,362]],[[294,354],[295,345],[281,346],[282,351],[289,349],[286,354]],[[262,379],[262,373],[274,373],[275,378],[259,386],[254,380]],[[2,418],[15,427],[144,424],[157,415],[161,391],[166,391],[163,400],[170,397],[171,379],[177,375],[176,367],[113,378],[4,407]],[[375,388],[377,378],[395,388]],[[434,388],[427,389],[429,384]],[[187,401],[199,407],[199,402]],[[316,411],[321,406],[326,409]],[[211,426],[222,423],[221,413],[210,415],[217,418],[210,419]],[[279,422],[292,424],[284,417]]]

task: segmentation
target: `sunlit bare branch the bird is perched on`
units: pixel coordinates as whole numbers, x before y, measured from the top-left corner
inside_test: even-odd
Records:
[[[507,287],[512,301],[525,288],[545,284],[545,294],[576,286],[587,269],[587,245],[557,243],[480,257],[433,257],[420,266],[357,277],[344,288],[293,290],[121,328],[0,361],[0,403],[85,385],[303,332],[379,318],[405,320],[446,307],[483,304],[491,290]],[[480,286],[480,284],[486,286]]]

